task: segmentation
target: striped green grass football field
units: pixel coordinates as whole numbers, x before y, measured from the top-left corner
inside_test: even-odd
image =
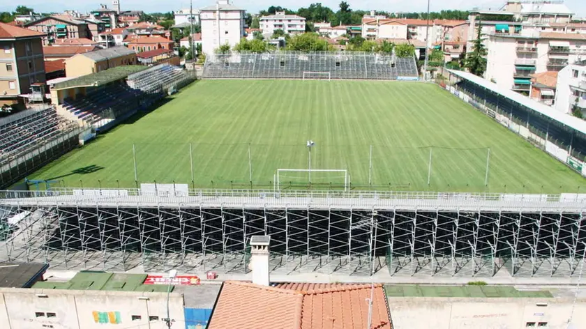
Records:
[[[312,168],[347,169],[354,189],[586,191],[585,178],[439,87],[368,81],[197,82],[29,178],[135,187],[134,145],[139,183],[250,188],[250,145],[253,188],[272,188],[276,169],[308,167],[308,139]],[[280,181],[307,188],[308,177]],[[343,177],[313,173],[312,182],[336,188]]]

